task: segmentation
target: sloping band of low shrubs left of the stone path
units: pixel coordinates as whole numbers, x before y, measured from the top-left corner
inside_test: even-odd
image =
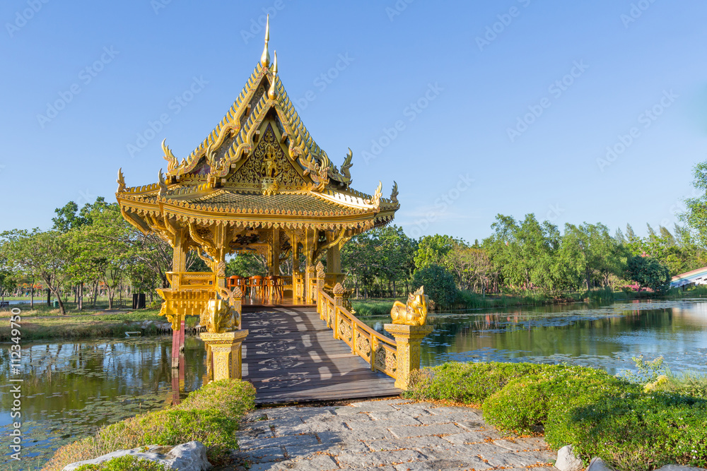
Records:
[[[180,405],[102,427],[93,436],[62,446],[42,471],[59,471],[69,463],[117,450],[154,444],[176,446],[192,440],[204,443],[211,464],[223,464],[230,450],[238,449],[235,431],[241,417],[254,407],[252,384],[214,381],[190,393]]]

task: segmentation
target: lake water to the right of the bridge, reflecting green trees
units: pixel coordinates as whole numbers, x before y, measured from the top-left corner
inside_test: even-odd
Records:
[[[370,318],[381,333],[389,318]],[[675,371],[707,373],[707,302],[565,304],[438,314],[423,341],[421,364],[501,361],[578,364],[612,374],[633,367],[631,357],[662,355]]]

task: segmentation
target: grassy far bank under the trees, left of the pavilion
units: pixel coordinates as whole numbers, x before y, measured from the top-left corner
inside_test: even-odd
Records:
[[[38,312],[23,309],[20,332],[22,340],[124,337],[126,332],[139,330],[135,322],[164,322],[165,318],[158,313],[154,309],[143,309],[61,316],[58,309]],[[13,337],[10,315],[10,311],[0,312],[0,342],[8,342]],[[157,333],[157,329],[148,328],[145,333]]]

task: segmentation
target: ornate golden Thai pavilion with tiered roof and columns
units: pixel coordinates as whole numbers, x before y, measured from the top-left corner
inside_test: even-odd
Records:
[[[315,280],[325,276],[327,287],[343,281],[341,247],[392,221],[399,208],[397,185],[390,198],[382,197],[381,184],[372,195],[352,189],[351,150],[337,168],[315,143],[288,98],[268,41],[269,25],[245,87],[191,154],[180,161],[163,141],[167,171],[160,169],[159,181],[146,186],[128,187],[118,172],[122,215],[174,249],[170,287],[158,292],[175,330],[209,299],[235,302],[225,273],[230,254],[263,256],[269,274],[283,279],[281,302],[314,304]],[[192,250],[209,272],[185,270]],[[281,273],[287,258],[291,273]]]

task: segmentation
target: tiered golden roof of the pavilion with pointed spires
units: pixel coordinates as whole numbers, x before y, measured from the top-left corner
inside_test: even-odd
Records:
[[[124,215],[147,231],[150,217],[236,227],[350,227],[361,232],[393,219],[397,185],[382,198],[350,188],[349,149],[332,165],[300,119],[270,64],[269,25],[261,60],[226,116],[178,162],[163,141],[167,173],[128,188],[119,171],[116,198]]]

